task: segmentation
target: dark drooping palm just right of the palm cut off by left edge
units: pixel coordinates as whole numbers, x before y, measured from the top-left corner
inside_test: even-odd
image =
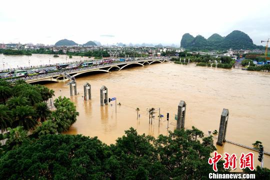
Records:
[[[13,122],[12,127],[23,126],[25,130],[32,130],[35,128],[37,121],[35,120],[35,110],[29,105],[18,105],[12,109]]]

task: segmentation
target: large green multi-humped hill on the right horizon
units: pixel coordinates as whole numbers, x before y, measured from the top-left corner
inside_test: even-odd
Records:
[[[181,39],[181,47],[189,50],[223,50],[223,49],[253,49],[261,48],[253,44],[252,39],[244,32],[233,30],[231,33],[222,37],[214,33],[207,39],[201,35],[193,37],[189,33],[185,33]]]

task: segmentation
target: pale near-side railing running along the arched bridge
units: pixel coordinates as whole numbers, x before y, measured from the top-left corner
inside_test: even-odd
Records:
[[[126,60],[126,61],[122,61],[122,62],[112,62],[112,63],[107,63],[107,64],[99,64],[99,65],[93,65],[93,66],[89,66],[89,67],[80,67],[80,68],[76,68],[76,69],[64,70],[64,72],[68,74],[68,73],[73,73],[73,72],[78,72],[78,71],[83,71],[83,70],[109,67],[109,66],[113,66],[113,65],[120,65],[120,64],[125,64],[125,63],[128,63],[128,62],[141,62],[141,61],[147,61],[147,60],[164,60],[164,59]],[[16,81],[18,79],[34,80],[34,79],[40,79],[40,78],[46,78],[46,77],[53,77],[55,75],[61,75],[61,73],[62,73],[61,71],[49,72],[49,73],[37,74],[37,75],[32,75],[32,76],[27,76],[27,77],[20,77],[20,78],[8,79],[7,81]]]

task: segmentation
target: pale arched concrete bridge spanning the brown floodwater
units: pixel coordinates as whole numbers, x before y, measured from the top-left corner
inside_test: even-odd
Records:
[[[128,67],[131,64],[138,64],[141,66],[150,65],[151,63],[162,63],[164,61],[168,61],[167,59],[140,59],[140,60],[128,60],[123,62],[113,62],[108,64],[101,64],[101,65],[93,65],[89,67],[82,67],[77,69],[71,70],[64,70],[58,72],[50,72],[45,74],[38,74],[28,77],[21,77],[15,78],[13,80],[23,79],[27,83],[34,83],[40,81],[54,81],[54,82],[63,82],[66,80],[70,80],[71,78],[87,73],[87,72],[95,72],[95,71],[103,71],[103,72],[110,72],[110,70],[121,70],[125,67]]]

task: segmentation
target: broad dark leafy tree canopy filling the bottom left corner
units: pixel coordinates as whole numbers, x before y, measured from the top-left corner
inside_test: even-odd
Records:
[[[0,179],[104,179],[106,148],[96,137],[43,135],[1,158]]]

